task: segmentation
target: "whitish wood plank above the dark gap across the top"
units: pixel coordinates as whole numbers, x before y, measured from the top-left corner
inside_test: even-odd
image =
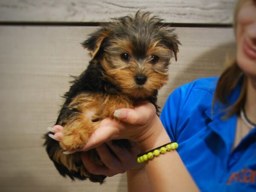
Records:
[[[110,18],[154,12],[169,23],[233,21],[237,0],[1,0],[0,21],[108,22]]]

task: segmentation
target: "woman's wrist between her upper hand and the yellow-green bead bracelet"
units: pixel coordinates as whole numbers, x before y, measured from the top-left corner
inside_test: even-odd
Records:
[[[141,152],[149,151],[153,148],[171,142],[162,122],[155,116],[151,128],[143,140],[137,142]]]

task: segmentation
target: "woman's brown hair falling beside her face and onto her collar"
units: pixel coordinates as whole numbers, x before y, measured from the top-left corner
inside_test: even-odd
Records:
[[[243,5],[245,0],[239,0],[236,9],[234,12],[234,21],[233,21],[233,26],[236,34],[236,24],[237,24],[237,15],[238,12]],[[224,119],[227,119],[235,114],[239,114],[241,108],[244,106],[245,102],[245,97],[246,97],[246,88],[247,88],[247,77],[243,75],[243,71],[239,68],[236,59],[230,62],[228,64],[227,68],[223,71],[221,74],[215,94],[214,94],[214,99],[212,103],[212,107],[214,106],[216,101],[221,102],[223,105],[227,106],[230,105],[229,103],[229,96],[235,89],[236,85],[239,83],[239,81],[242,80],[242,85],[241,85],[241,92],[239,95],[239,98],[236,100],[236,102],[229,106],[228,108],[225,109],[225,115],[223,116]]]

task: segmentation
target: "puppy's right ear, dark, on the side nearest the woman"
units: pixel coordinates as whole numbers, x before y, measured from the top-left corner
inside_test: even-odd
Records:
[[[180,41],[177,40],[177,35],[173,33],[173,29],[162,33],[161,43],[173,51],[175,61],[177,61],[177,52],[179,52]]]

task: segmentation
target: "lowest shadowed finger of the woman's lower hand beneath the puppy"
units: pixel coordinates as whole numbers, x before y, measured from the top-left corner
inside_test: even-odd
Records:
[[[92,160],[90,160],[90,156],[86,152],[81,154],[81,160],[88,172],[94,175],[109,175],[109,169],[105,165],[94,163]]]

